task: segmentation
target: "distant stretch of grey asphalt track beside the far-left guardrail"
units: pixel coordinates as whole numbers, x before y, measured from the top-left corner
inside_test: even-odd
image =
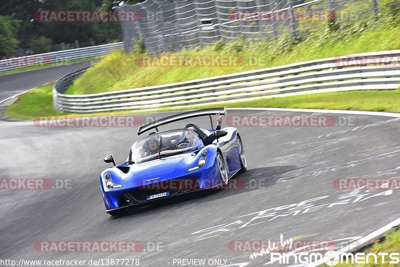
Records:
[[[0,75],[0,101],[89,65],[89,61],[83,61]]]

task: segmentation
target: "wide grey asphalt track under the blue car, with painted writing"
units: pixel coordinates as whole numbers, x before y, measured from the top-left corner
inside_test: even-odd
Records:
[[[255,113],[228,111],[229,115]],[[147,119],[146,114],[140,116]],[[248,170],[234,179],[244,180],[247,188],[163,199],[122,217],[105,213],[98,175],[108,166],[102,161],[105,155],[113,153],[117,162],[126,158],[138,138],[137,127],[55,128],[29,121],[0,122],[0,177],[71,179],[72,187],[0,190],[0,258],[138,258],[140,266],[157,267],[173,266],[177,258],[219,258],[229,266],[261,266],[268,255],[250,259],[249,252],[229,250],[228,243],[279,240],[280,234],[285,239],[335,240],[339,248],[341,242],[400,216],[398,190],[333,187],[337,178],[400,175],[399,119],[351,118],[352,126],[240,126]],[[209,123],[207,117],[196,121]],[[34,248],[40,240],[139,240],[146,251],[40,252]],[[162,242],[158,251],[148,247],[152,242]]]

